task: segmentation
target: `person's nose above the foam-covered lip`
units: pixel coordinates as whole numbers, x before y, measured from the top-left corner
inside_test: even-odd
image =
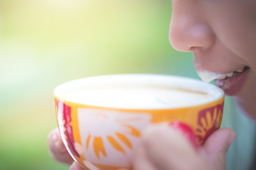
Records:
[[[173,0],[169,40],[178,51],[207,49],[215,41],[215,35],[207,24],[205,14],[193,0]]]

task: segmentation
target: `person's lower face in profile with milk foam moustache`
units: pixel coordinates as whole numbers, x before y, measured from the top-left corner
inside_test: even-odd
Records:
[[[173,0],[169,39],[256,120],[256,0]]]

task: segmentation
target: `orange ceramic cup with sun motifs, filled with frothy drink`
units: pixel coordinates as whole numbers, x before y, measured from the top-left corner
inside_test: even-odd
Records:
[[[170,75],[124,74],[77,79],[54,90],[63,142],[85,170],[131,167],[143,129],[180,121],[198,144],[220,128],[224,92]]]

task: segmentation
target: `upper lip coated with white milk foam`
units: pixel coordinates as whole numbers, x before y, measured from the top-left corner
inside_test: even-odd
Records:
[[[236,69],[236,71],[232,71],[232,72],[228,72],[228,73],[218,73],[218,72],[213,72],[213,71],[209,71],[206,69],[197,69],[197,72],[198,72],[199,77],[204,82],[211,82],[214,79],[230,78],[232,76],[237,75],[238,73],[243,72],[244,70],[246,70],[248,68],[249,68],[248,66],[243,66],[243,67]]]

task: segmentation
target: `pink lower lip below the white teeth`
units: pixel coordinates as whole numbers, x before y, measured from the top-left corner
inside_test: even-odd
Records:
[[[247,77],[249,71],[250,68],[229,79],[216,79],[215,83],[217,86],[222,88],[226,95],[234,96],[243,87],[243,83],[245,82],[245,78]]]

